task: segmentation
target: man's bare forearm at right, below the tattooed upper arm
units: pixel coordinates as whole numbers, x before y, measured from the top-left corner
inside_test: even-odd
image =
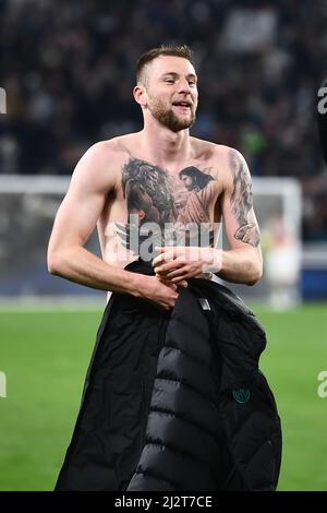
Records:
[[[263,275],[262,258],[256,250],[232,249],[229,251],[218,250],[217,261],[220,262],[220,271],[217,276],[232,283],[254,285]]]

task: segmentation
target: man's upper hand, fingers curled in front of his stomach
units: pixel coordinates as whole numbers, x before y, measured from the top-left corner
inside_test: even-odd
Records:
[[[156,247],[160,252],[153,260],[156,275],[171,283],[203,277],[204,273],[217,273],[221,269],[221,251],[217,248]]]

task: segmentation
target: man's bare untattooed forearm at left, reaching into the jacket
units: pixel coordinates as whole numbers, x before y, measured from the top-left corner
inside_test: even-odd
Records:
[[[146,278],[110,265],[80,246],[49,254],[48,269],[51,274],[87,287],[133,296],[141,295],[142,281]]]

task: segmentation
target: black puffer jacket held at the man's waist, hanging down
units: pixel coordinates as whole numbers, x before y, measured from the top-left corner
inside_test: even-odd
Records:
[[[129,271],[152,274],[138,260]],[[172,311],[112,294],[57,490],[275,490],[280,419],[258,370],[265,332],[193,278]]]

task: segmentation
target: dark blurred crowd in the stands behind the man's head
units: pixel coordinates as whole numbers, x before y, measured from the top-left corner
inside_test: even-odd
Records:
[[[136,59],[186,43],[199,76],[193,135],[240,150],[253,176],[296,177],[303,237],[327,240],[316,127],[325,0],[0,0],[0,172],[70,175],[94,142],[140,130]]]

